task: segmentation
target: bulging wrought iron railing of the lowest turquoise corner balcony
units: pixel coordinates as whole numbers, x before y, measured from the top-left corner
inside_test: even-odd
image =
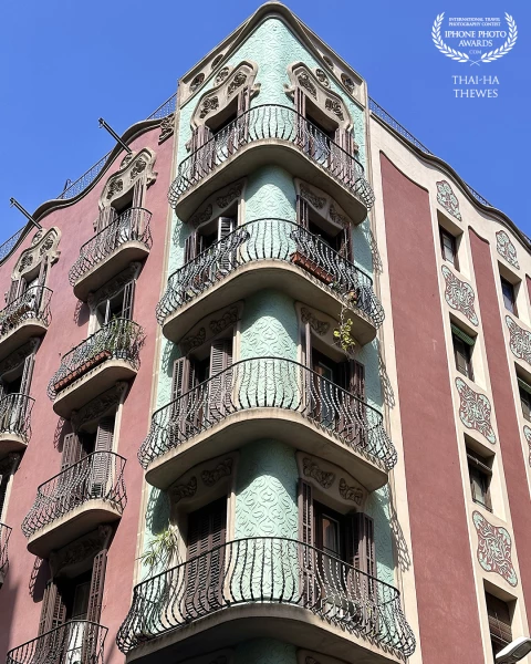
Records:
[[[142,643],[238,604],[291,604],[402,656],[415,636],[399,592],[302,542],[261,537],[212,548],[134,589],[116,643]]]

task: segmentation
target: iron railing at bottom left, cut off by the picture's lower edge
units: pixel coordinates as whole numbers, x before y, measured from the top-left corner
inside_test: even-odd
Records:
[[[9,651],[7,664],[103,664],[107,627],[71,620]]]

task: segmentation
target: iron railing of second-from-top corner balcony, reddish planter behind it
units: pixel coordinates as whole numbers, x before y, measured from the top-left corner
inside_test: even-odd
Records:
[[[257,219],[239,226],[169,277],[156,309],[158,322],[163,324],[169,314],[240,266],[271,259],[298,264],[323,288],[344,298],[350,308],[362,310],[376,328],[384,321],[384,309],[366,272],[293,221]]]

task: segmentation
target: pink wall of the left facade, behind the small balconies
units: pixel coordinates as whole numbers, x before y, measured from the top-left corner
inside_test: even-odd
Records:
[[[167,191],[170,183],[173,139],[158,145],[159,128],[156,127],[136,138],[131,147],[139,151],[149,147],[157,158],[155,172],[158,178],[147,190],[145,207],[153,212],[150,228],[153,248],[137,282],[134,319],[146,332],[140,353],[142,366],[126,398],[117,452],[127,459],[125,483],[127,506],[118,525],[108,553],[108,564],[103,600],[102,624],[108,627],[105,662],[123,662],[116,649],[116,631],[131,603],[136,536],[143,486],[143,470],[136,454],[149,426],[149,400],[152,390],[155,336],[157,323],[155,305],[163,282],[166,225],[168,215]],[[79,301],[69,283],[69,270],[75,262],[80,247],[93,235],[93,220],[97,217],[97,200],[111,173],[117,170],[123,154],[94,189],[76,204],[51,212],[41,224],[44,228],[56,226],[62,231],[59,246],[61,257],[50,272],[48,286],[53,290],[52,323],[40,346],[31,396],[35,398],[32,415],[33,435],[14,476],[6,522],[13,528],[10,546],[10,569],[0,589],[0,655],[8,650],[37,636],[42,591],[49,578],[48,564],[34,572],[38,560],[27,550],[27,540],[20,525],[35,498],[37,487],[60,470],[60,452],[54,447],[59,417],[53,413],[46,395],[48,383],[59,369],[60,356],[87,335],[87,307],[83,305],[76,320]],[[22,221],[22,218],[21,218]],[[33,234],[22,247],[0,267],[0,292],[8,290],[10,274],[20,252],[30,245]]]

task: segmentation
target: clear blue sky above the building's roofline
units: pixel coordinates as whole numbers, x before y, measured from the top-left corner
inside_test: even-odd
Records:
[[[118,134],[170,96],[177,80],[259,7],[257,0],[6,0],[0,9],[0,242],[62,191]],[[525,0],[288,0],[433,153],[531,235],[531,3]],[[435,48],[431,25],[513,15],[513,50],[480,68]],[[456,45],[456,44],[452,44]],[[478,71],[479,70],[479,71]],[[497,98],[456,98],[454,75],[498,76]]]

